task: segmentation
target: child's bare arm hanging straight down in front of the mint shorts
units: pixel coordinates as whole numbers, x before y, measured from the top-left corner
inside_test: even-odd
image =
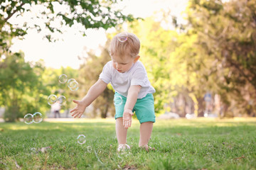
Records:
[[[132,109],[134,108],[134,105],[137,102],[137,97],[140,89],[142,89],[142,86],[133,85],[130,86],[128,90],[127,102],[125,103],[123,114],[124,128],[129,128],[132,125]]]

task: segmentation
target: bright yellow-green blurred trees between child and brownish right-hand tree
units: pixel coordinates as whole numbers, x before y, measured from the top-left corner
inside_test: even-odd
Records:
[[[154,17],[145,18],[144,21],[134,21],[131,29],[141,40],[140,60],[144,63],[149,80],[156,89],[154,94],[156,113],[172,111],[184,117],[185,108],[189,107],[187,110],[190,110],[190,113],[195,108],[198,111],[198,107],[194,106],[194,103],[198,102],[193,91],[200,88],[193,87],[198,86],[197,74],[191,72],[189,68],[193,63],[189,56],[196,51],[192,47],[196,37],[178,33],[175,29],[164,28],[162,23],[168,22],[165,18],[167,14],[164,14],[160,21],[156,21]],[[173,24],[172,21],[169,22]],[[177,102],[181,96],[182,106]]]

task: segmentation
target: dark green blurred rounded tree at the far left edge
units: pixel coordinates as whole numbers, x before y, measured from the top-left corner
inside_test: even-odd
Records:
[[[25,62],[23,53],[9,53],[0,62],[0,106],[6,108],[4,120],[13,122],[26,113],[43,113],[41,107],[47,92],[41,78],[43,63]]]

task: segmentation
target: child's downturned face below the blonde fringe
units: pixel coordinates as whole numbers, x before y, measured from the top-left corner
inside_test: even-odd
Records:
[[[127,72],[132,65],[139,60],[139,55],[137,57],[131,57],[130,55],[125,55],[120,58],[119,56],[112,56],[112,62],[114,69],[117,69],[117,72]]]

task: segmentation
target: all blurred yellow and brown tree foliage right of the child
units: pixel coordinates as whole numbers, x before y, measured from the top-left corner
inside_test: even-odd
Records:
[[[255,113],[254,11],[255,1],[195,0],[185,11],[188,24],[178,26],[172,17],[176,30],[161,26],[169,13],[161,21],[152,17],[131,24],[142,42],[140,60],[156,89],[156,113],[169,111],[166,104],[183,98],[203,115],[207,91],[220,95],[220,116]],[[185,115],[185,107],[176,112]]]

